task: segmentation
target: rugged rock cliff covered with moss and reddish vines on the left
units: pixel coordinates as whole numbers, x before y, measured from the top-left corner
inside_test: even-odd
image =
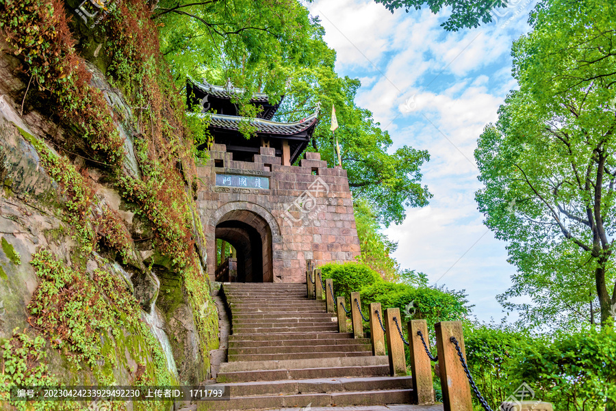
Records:
[[[149,5],[107,9],[0,1],[3,410],[18,383],[197,384],[218,347],[180,93]]]

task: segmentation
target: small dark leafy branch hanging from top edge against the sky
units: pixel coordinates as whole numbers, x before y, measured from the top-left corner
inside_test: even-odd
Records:
[[[437,14],[441,9],[451,7],[451,14],[447,21],[441,24],[447,31],[458,31],[464,27],[478,27],[479,23],[492,21],[491,10],[506,7],[507,0],[374,0],[385,5],[392,13],[399,8],[405,8],[408,13],[411,8],[420,10],[427,5],[430,11]]]

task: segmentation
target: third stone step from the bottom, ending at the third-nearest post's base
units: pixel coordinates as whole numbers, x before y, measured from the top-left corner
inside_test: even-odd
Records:
[[[233,371],[281,370],[300,368],[332,368],[332,367],[367,367],[371,365],[387,365],[387,356],[367,357],[327,357],[305,358],[297,360],[260,360],[260,361],[233,361],[220,364],[221,373]],[[344,375],[343,375],[344,376]]]

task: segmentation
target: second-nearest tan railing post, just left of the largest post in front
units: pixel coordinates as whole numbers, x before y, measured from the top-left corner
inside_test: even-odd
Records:
[[[411,351],[411,375],[413,375],[413,396],[415,403],[433,404],[434,388],[432,386],[432,364],[426,354],[422,338],[417,334],[422,332],[426,346],[430,349],[428,340],[428,323],[424,319],[409,321],[409,349]]]

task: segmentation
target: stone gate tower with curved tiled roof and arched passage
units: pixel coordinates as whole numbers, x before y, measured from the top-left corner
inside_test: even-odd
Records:
[[[197,199],[211,279],[303,282],[308,261],[354,261],[359,239],[346,170],[327,168],[319,153],[305,153],[292,165],[309,143],[318,110],[299,122],[274,122],[278,105],[255,94],[259,118],[242,118],[231,98],[244,90],[192,80],[187,89],[191,104],[216,111],[209,160],[198,167]],[[247,140],[241,122],[255,127],[256,137]],[[237,250],[237,261],[224,269],[216,266],[216,239]]]

